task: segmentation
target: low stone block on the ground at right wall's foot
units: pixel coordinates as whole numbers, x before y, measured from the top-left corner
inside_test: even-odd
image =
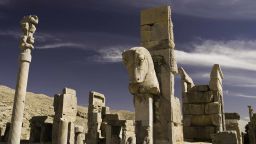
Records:
[[[239,144],[235,131],[219,132],[213,137],[213,144]]]

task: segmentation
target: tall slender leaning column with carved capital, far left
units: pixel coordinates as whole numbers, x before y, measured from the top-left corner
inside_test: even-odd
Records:
[[[38,17],[34,15],[25,16],[21,21],[23,36],[20,42],[20,67],[17,78],[15,98],[12,111],[11,129],[8,144],[19,144],[22,129],[22,120],[25,107],[25,96],[27,91],[27,81],[29,65],[31,62],[31,50],[34,48],[34,33]]]

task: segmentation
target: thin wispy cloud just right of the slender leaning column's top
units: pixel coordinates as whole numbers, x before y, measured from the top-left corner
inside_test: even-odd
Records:
[[[62,47],[85,48],[86,46],[83,44],[77,44],[77,43],[54,43],[54,44],[37,46],[36,48],[49,49],[49,48],[62,48]]]

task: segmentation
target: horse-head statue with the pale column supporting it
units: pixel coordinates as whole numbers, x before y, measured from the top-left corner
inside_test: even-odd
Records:
[[[134,95],[136,143],[153,144],[153,97],[160,94],[154,63],[144,47],[134,47],[122,54]]]

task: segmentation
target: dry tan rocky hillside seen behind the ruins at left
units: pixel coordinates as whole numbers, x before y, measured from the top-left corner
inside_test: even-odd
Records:
[[[11,121],[11,112],[13,105],[15,91],[6,86],[0,85],[0,142],[7,142],[8,131],[10,129],[9,124]],[[27,100],[25,102],[25,113],[23,119],[23,127],[21,139],[25,143],[35,142],[39,143],[40,135],[45,135],[42,141],[47,142],[48,138],[52,139],[51,129],[53,124],[54,107],[53,97],[49,97],[44,94],[35,94],[27,92]],[[40,103],[38,103],[40,101]],[[84,128],[83,136],[87,132],[87,107],[78,106],[76,115],[75,126],[81,126]],[[110,110],[111,114],[116,114],[121,120],[133,120],[134,113],[125,110]],[[47,127],[47,132],[41,131],[40,128]],[[32,133],[33,134],[32,134]],[[49,137],[48,137],[49,136]]]

